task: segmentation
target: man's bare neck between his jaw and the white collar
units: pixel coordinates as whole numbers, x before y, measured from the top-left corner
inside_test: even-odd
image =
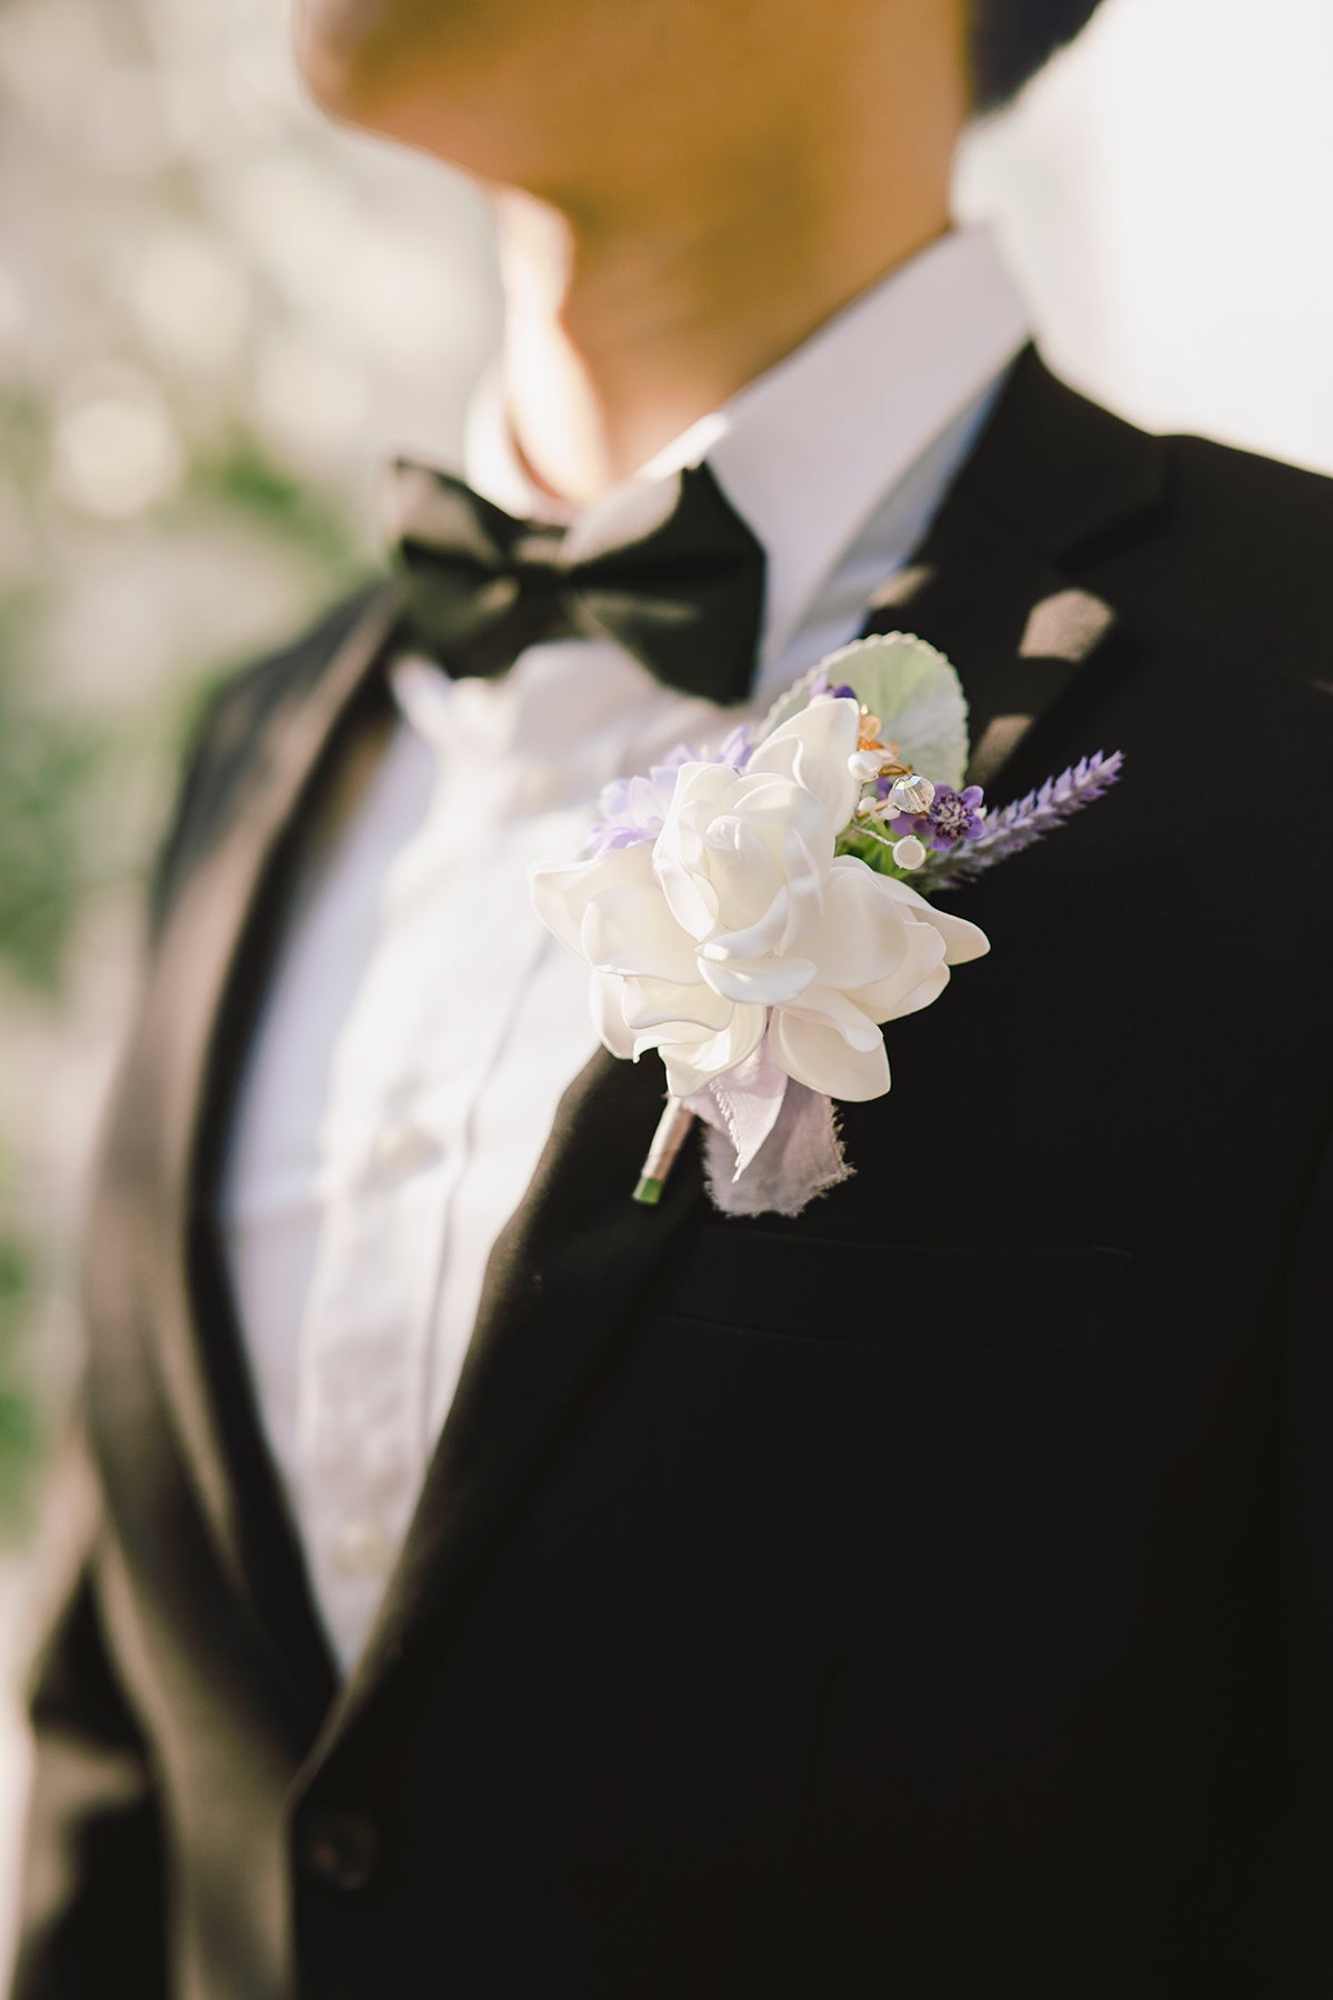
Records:
[[[775,158],[693,208],[498,196],[508,408],[540,486],[606,492],[947,228],[957,124],[885,128],[865,160],[783,184]]]

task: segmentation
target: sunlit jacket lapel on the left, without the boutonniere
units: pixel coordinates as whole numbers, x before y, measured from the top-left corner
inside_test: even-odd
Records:
[[[276,708],[246,718],[234,762],[212,776],[228,792],[216,824],[208,800],[194,802],[204,828],[162,930],[116,1114],[118,1178],[126,1160],[142,1162],[154,1362],[182,1460],[310,1734],[334,1674],[254,1412],[214,1242],[212,1178],[294,834],[350,730],[382,700],[378,668],[396,618],[394,596],[380,592],[332,658],[294,674]]]

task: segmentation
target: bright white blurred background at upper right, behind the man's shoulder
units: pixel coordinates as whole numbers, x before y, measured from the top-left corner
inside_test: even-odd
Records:
[[[1331,104],[1327,0],[1105,0],[971,144],[959,208],[1079,388],[1329,472]]]

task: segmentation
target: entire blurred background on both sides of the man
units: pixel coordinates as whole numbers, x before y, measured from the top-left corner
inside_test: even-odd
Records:
[[[1331,98],[1327,0],[1105,0],[969,142],[959,212],[997,222],[1077,386],[1333,470]],[[456,450],[496,312],[484,206],[304,106],[280,0],[0,0],[0,1418],[74,1350],[190,690],[372,560],[376,466]],[[10,1430],[36,1458],[40,1422]],[[30,1518],[0,1556],[10,1686]],[[22,1788],[10,1698],[0,1966]]]

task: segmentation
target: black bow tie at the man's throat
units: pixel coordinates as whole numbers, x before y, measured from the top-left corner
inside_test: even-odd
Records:
[[[614,638],[685,694],[749,694],[763,548],[707,466],[632,484],[570,528],[514,520],[448,472],[392,468],[396,554],[424,646],[502,674],[550,638]]]

